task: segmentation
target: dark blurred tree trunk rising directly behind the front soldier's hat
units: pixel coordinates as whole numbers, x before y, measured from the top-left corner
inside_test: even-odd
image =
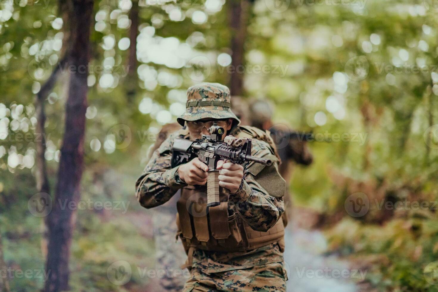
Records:
[[[229,22],[231,28],[231,68],[230,91],[232,95],[242,95],[244,79],[244,45],[247,36],[247,25],[250,14],[248,0],[231,0]]]

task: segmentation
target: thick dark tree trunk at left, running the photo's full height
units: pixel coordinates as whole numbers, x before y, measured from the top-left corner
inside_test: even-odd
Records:
[[[69,11],[71,49],[67,63],[73,66],[66,103],[65,129],[52,212],[47,218],[49,253],[46,271],[50,271],[45,291],[69,290],[70,246],[75,222],[71,201],[78,203],[84,161],[85,111],[93,0],[74,0]],[[63,209],[63,206],[67,208]]]

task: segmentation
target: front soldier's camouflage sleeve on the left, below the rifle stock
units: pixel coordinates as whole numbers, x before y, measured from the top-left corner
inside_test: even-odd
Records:
[[[177,133],[170,135],[154,151],[143,174],[135,183],[135,195],[141,206],[145,208],[152,208],[166,203],[178,189],[186,186],[185,183],[180,180],[177,181],[175,178],[179,166],[171,168],[172,144]]]

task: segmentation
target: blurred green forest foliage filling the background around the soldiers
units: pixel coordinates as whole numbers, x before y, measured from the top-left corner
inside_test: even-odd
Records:
[[[141,290],[148,284],[135,273],[121,287],[106,277],[116,260],[127,260],[133,267],[154,261],[149,213],[135,200],[135,179],[154,134],[176,120],[184,109],[186,89],[200,82],[191,79],[203,67],[196,58],[208,60],[200,70],[205,81],[229,81],[227,68],[218,64],[221,53],[232,56],[228,4],[152,2],[140,1],[134,81],[127,75],[129,49],[123,45],[129,38],[131,2],[95,4],[81,198],[130,205],[125,214],[78,210],[71,259],[74,291]],[[333,5],[336,1],[292,1],[283,12],[270,11],[266,2],[257,0],[252,7],[245,59],[247,68],[267,64],[269,70],[246,71],[247,97],[272,100],[275,122],[357,139],[311,143],[313,165],[298,168],[293,176],[297,203],[327,218],[332,250],[352,261],[385,259],[372,262],[367,274],[371,285],[382,291],[435,291],[437,286],[423,275],[424,267],[436,260],[434,211],[391,212],[372,204],[367,215],[354,219],[344,210],[353,192],[366,193],[371,202],[437,200],[438,141],[427,131],[437,123],[438,103],[438,14],[427,9],[431,1],[367,0],[363,9]],[[4,1],[1,9],[11,11],[11,17],[6,19],[7,12],[0,16],[0,232],[8,266],[41,269],[43,219],[27,208],[37,193],[39,133],[33,102],[62,57],[68,23],[60,25],[56,2]],[[195,21],[195,11],[205,13],[206,20]],[[355,76],[354,70],[364,65],[357,57],[368,64],[363,78]],[[412,71],[422,66],[427,69]],[[46,100],[52,192],[64,133],[67,78],[68,72],[61,74]],[[128,98],[128,91],[134,95]],[[118,124],[129,128],[125,134],[131,143],[114,149],[120,132],[112,127]],[[18,138],[25,134],[32,137]],[[141,222],[146,231],[140,230]],[[13,291],[35,291],[42,285],[39,279],[11,281]]]

